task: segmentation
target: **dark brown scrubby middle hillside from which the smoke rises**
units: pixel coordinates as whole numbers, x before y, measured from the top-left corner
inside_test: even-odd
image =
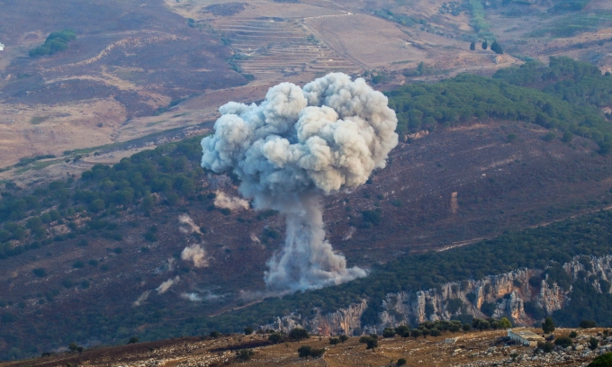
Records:
[[[581,65],[572,69],[581,70]],[[612,79],[599,75],[595,80],[608,85]],[[491,96],[491,91],[497,91],[512,98],[514,91],[533,98],[518,99],[512,104],[514,110],[507,108],[509,120],[501,120],[497,112],[486,108],[484,114],[475,114],[477,109],[471,106],[481,98],[479,88],[489,88],[484,90]],[[470,93],[461,94],[465,89]],[[263,273],[267,259],[283,241],[284,219],[274,211],[246,210],[247,203],[229,209],[227,200],[235,201],[232,198],[238,195],[236,177],[202,171],[199,137],[144,150],[114,166],[94,166],[80,177],[31,186],[4,183],[0,321],[10,327],[3,327],[0,336],[3,357],[40,354],[67,341],[89,346],[121,343],[133,335],[155,340],[201,335],[211,328],[235,331],[271,323],[296,310],[304,315],[316,313],[314,308],[333,312],[362,300],[369,303],[363,315],[356,317],[356,327],[375,327],[387,293],[428,290],[467,278],[480,280],[520,267],[542,273],[547,261],[609,255],[608,247],[602,245],[608,240],[600,234],[572,238],[568,244],[575,241],[581,246],[566,248],[561,257],[558,252],[539,254],[520,247],[522,236],[569,236],[591,217],[563,222],[561,229],[517,232],[464,247],[467,252],[455,248],[508,230],[608,208],[612,158],[602,150],[608,141],[607,117],[594,104],[564,101],[545,86],[540,90],[509,85],[499,78],[459,76],[437,85],[392,91],[391,104],[402,112],[400,105],[406,101],[419,102],[412,110],[428,112],[427,101],[444,102],[435,98],[444,95],[441,90],[450,101],[461,97],[448,104],[446,116],[452,117],[453,108],[466,111],[464,116],[444,120],[443,114],[436,125],[428,125],[429,130],[418,126],[417,133],[404,131],[406,139],[370,183],[325,199],[329,240],[349,264],[370,268],[372,276],[282,300],[260,303],[269,296],[264,292]],[[410,94],[419,98],[410,99]],[[546,103],[551,108],[545,108]],[[568,117],[560,112],[581,111],[589,112],[593,120],[583,121],[582,126],[563,125]],[[411,121],[430,121],[423,115],[414,117],[409,114],[401,121],[406,126]],[[542,118],[559,121],[555,125],[559,136],[545,130],[538,120]],[[576,135],[564,139],[563,129]],[[35,164],[23,162],[23,167]],[[602,228],[608,228],[608,217],[602,215],[597,218]],[[551,235],[549,230],[558,233]],[[467,254],[479,253],[482,246],[500,251],[518,246],[517,255],[535,254],[541,261],[520,257],[507,264],[491,264],[486,259],[476,263],[482,268],[460,266],[473,273],[440,270],[444,277],[376,278],[399,274],[405,264],[414,263],[414,271],[420,266],[434,269],[438,263],[452,263],[458,254],[468,256],[463,260],[467,261],[475,256]],[[554,244],[541,240],[538,246]],[[442,257],[410,255],[435,249],[449,252],[442,252]],[[504,260],[504,254],[498,259]],[[384,265],[389,270],[380,273],[385,269],[381,264],[399,257],[401,261]],[[348,293],[338,296],[338,291]],[[494,300],[491,295],[487,301]],[[204,315],[202,309],[206,309]],[[604,311],[599,315],[605,324],[608,311]],[[563,319],[574,326],[575,319]]]

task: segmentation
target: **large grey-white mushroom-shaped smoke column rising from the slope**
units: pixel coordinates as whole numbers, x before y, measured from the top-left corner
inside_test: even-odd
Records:
[[[257,105],[220,107],[214,135],[202,139],[202,167],[233,170],[239,192],[256,210],[279,210],[287,220],[283,250],[267,263],[266,285],[298,291],[365,276],[347,269],[325,240],[321,195],[348,191],[383,168],[398,143],[397,118],[380,92],[342,73],[300,88],[270,88]]]

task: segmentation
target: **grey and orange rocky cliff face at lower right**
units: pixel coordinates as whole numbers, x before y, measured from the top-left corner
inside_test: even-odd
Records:
[[[563,264],[563,271],[572,280],[588,279],[596,289],[609,290],[601,284],[612,279],[612,255],[602,257],[576,256]],[[544,309],[547,315],[562,309],[569,300],[572,287],[563,289],[548,278],[546,269],[518,269],[509,273],[490,275],[482,280],[449,282],[440,288],[428,291],[401,291],[388,293],[383,300],[383,312],[378,325],[361,325],[361,316],[367,301],[355,303],[347,309],[338,309],[322,314],[315,309],[314,316],[302,317],[291,314],[277,318],[263,329],[287,331],[293,327],[304,327],[312,333],[329,335],[359,335],[377,332],[383,327],[402,324],[416,325],[437,319],[449,320],[459,315],[476,318],[510,318],[515,325],[533,325],[536,321],[525,311],[525,303]],[[485,315],[482,311],[488,313]]]

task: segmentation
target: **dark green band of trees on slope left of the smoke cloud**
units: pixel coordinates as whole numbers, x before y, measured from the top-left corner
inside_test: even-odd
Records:
[[[89,230],[121,240],[117,224],[103,218],[129,208],[148,215],[160,205],[210,201],[199,184],[203,170],[193,163],[202,155],[200,139],[185,139],[146,150],[113,166],[95,165],[80,180],[58,180],[32,192],[6,183],[0,199],[0,259],[85,235]],[[75,219],[79,214],[92,220],[77,226]],[[49,228],[58,224],[67,224],[70,232],[53,235]],[[147,240],[157,241],[155,229],[149,228]]]

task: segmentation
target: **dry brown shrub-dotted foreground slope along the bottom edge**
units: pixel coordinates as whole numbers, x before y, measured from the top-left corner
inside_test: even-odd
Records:
[[[534,330],[538,332],[538,330]],[[541,331],[541,330],[540,330]],[[516,366],[585,366],[599,354],[609,351],[608,330],[604,329],[557,329],[555,336],[567,337],[571,332],[577,336],[572,345],[554,347],[544,352],[535,346],[509,344],[504,338],[506,331],[446,332],[443,336],[382,338],[378,346],[367,350],[358,337],[349,337],[346,342],[330,345],[329,338],[311,336],[301,342],[289,341],[273,345],[269,334],[227,335],[218,338],[191,337],[173,340],[121,345],[115,347],[85,349],[82,353],[63,352],[16,363],[0,363],[2,367],[55,365],[123,366],[176,365],[176,366],[381,366],[427,364],[430,366],[496,366],[511,363]],[[591,351],[590,338],[598,341]],[[300,358],[298,349],[305,345],[322,349],[320,358]],[[553,345],[554,346],[554,345]],[[250,354],[250,355],[249,355]],[[239,357],[242,355],[242,357]]]

